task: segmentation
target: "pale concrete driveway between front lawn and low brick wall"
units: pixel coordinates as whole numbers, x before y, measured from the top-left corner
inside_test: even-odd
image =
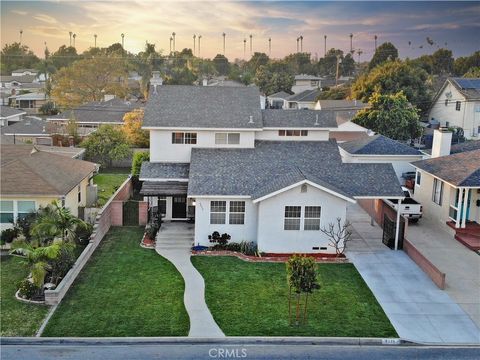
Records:
[[[399,336],[420,343],[480,343],[475,323],[403,251],[381,242],[382,229],[358,205],[347,217],[354,236],[348,258],[372,290]]]

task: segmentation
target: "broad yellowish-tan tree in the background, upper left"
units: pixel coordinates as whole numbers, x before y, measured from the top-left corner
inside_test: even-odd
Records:
[[[65,108],[101,101],[105,94],[123,98],[127,94],[127,75],[125,65],[119,58],[79,60],[62,68],[52,77],[52,97],[58,105]]]

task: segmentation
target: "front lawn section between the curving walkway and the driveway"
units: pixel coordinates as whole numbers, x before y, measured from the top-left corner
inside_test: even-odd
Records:
[[[230,336],[397,336],[352,264],[319,264],[321,289],[309,296],[307,325],[288,321],[285,264],[235,257],[192,257],[206,284],[206,302]]]

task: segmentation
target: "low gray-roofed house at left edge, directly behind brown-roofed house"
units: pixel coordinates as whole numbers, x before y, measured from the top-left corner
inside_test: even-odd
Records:
[[[13,143],[52,143],[47,122],[34,116],[25,116],[22,121],[2,127],[1,133],[4,136],[11,137]]]

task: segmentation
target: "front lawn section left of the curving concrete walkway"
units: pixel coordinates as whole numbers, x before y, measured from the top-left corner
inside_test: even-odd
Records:
[[[184,283],[139,246],[141,227],[112,228],[50,319],[43,336],[186,336]]]

